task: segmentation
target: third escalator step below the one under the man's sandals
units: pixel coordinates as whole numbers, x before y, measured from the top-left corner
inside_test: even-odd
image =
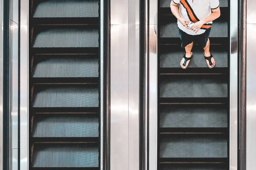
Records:
[[[227,139],[166,136],[160,140],[160,158],[227,158]]]

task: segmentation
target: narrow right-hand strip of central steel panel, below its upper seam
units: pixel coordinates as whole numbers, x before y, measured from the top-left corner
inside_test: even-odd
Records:
[[[138,13],[136,14],[138,15]],[[138,24],[137,24],[138,25]],[[139,170],[139,30],[129,26],[129,170]]]

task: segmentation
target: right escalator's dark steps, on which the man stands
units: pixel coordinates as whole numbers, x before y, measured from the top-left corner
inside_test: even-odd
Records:
[[[158,170],[228,170],[229,167],[229,0],[220,0],[221,17],[213,22],[207,68],[195,44],[185,70],[180,60],[177,19],[169,0],[158,0]]]

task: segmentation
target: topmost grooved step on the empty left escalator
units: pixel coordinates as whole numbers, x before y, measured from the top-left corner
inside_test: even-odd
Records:
[[[98,0],[44,0],[35,7],[33,17],[98,17],[98,3]]]

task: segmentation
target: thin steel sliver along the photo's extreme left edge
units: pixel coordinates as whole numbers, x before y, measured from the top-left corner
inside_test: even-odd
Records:
[[[3,68],[3,1],[0,0],[0,68]],[[0,136],[3,136],[3,69],[0,69]],[[0,137],[0,156],[3,156],[3,138]],[[3,159],[0,159],[0,170]]]

